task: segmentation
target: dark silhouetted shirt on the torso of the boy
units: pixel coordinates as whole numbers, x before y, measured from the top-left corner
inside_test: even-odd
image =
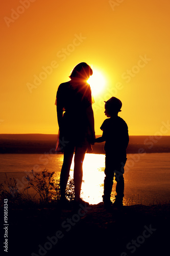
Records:
[[[129,143],[128,125],[119,116],[105,119],[101,126],[103,139],[106,141],[104,150],[117,158],[126,157],[126,148]]]

